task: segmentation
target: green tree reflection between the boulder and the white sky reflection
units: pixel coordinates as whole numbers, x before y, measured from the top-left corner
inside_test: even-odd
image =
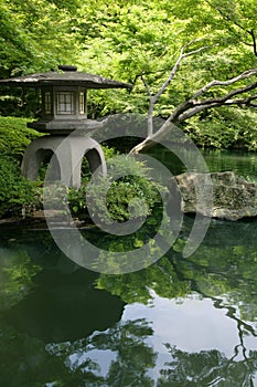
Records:
[[[188,259],[181,254],[184,242],[180,239],[174,250],[156,264],[124,275],[101,274],[97,287],[119,295],[125,302],[144,304],[151,299],[151,290],[169,299],[192,291],[207,297],[226,294],[226,306],[238,305],[240,318],[254,322],[257,318],[257,297],[253,296],[257,278],[256,237],[255,223],[213,222],[202,245]]]

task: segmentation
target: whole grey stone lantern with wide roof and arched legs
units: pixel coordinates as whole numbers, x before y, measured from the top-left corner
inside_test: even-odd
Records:
[[[50,135],[33,140],[22,160],[22,175],[38,177],[40,165],[52,156],[51,177],[66,186],[81,185],[81,167],[85,156],[92,171],[106,174],[100,145],[87,136],[97,128],[97,121],[87,118],[87,90],[131,88],[130,84],[78,72],[75,66],[58,66],[58,71],[1,80],[0,86],[33,87],[41,96],[42,114],[28,126]],[[100,167],[98,169],[98,167]]]

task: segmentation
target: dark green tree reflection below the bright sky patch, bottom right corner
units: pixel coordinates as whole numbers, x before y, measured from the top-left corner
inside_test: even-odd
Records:
[[[197,354],[182,352],[167,345],[172,360],[160,370],[157,386],[176,387],[254,387],[257,373],[257,352],[249,352],[247,360],[227,359],[218,351]]]

